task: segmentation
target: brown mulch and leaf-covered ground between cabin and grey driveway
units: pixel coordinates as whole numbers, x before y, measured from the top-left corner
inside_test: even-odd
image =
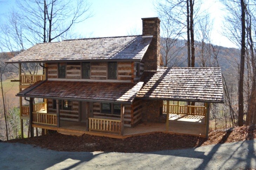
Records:
[[[25,143],[57,151],[109,151],[138,153],[195,148],[217,143],[230,143],[251,139],[256,139],[255,126],[236,127],[228,131],[210,132],[208,140],[197,136],[166,133],[132,136],[126,139],[113,139],[86,134],[73,136],[55,133],[36,136],[34,138],[13,139],[5,142]]]

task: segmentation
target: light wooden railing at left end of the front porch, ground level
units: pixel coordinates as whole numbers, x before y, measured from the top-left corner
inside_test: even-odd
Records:
[[[33,123],[57,126],[57,115],[49,113],[33,112]]]

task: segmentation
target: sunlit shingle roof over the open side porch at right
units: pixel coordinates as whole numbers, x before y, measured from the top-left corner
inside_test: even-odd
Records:
[[[220,68],[159,68],[141,81],[137,98],[224,103]]]

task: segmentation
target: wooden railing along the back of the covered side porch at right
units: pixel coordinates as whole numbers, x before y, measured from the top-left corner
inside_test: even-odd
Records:
[[[163,113],[166,113],[167,105],[163,104]],[[169,105],[169,113],[187,114],[193,116],[205,116],[206,108],[204,106],[185,106],[185,105]]]

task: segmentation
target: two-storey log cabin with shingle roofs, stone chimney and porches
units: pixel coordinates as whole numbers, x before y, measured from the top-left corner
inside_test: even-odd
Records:
[[[27,62],[44,63],[45,74],[22,73]],[[155,132],[207,138],[210,104],[224,103],[220,68],[161,66],[158,17],[142,18],[142,35],[36,44],[8,63],[19,64],[22,137],[29,120],[31,136],[42,128],[112,138]]]

